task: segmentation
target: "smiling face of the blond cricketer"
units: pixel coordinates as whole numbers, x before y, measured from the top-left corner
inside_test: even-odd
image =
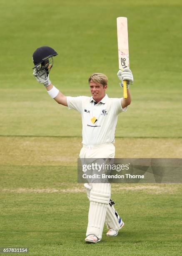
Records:
[[[106,89],[107,85],[103,86],[102,84],[95,83],[92,80],[90,81],[90,92],[96,102],[100,102],[100,100],[102,100],[105,96]]]

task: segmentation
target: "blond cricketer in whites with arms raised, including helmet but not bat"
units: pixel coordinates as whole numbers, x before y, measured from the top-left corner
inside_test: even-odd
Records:
[[[105,74],[94,73],[89,79],[91,97],[65,96],[49,79],[49,72],[53,66],[53,56],[57,52],[48,46],[42,46],[33,53],[34,71],[33,76],[38,82],[44,84],[48,94],[57,103],[80,112],[82,117],[82,149],[81,159],[115,157],[115,129],[117,117],[127,111],[131,103],[130,84],[133,84],[133,75],[127,67],[124,71],[119,70],[117,76],[127,81],[127,98],[109,98],[106,94],[108,79]],[[124,226],[122,218],[114,208],[115,202],[111,200],[111,185],[108,182],[91,184],[86,183],[85,189],[90,200],[88,213],[88,225],[85,241],[97,243],[102,238],[104,223],[108,231],[107,236],[117,236],[118,230]]]

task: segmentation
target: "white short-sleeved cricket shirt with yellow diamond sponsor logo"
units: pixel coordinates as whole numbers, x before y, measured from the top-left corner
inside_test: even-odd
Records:
[[[117,116],[122,109],[121,98],[109,98],[107,94],[96,104],[93,97],[67,97],[68,109],[82,115],[82,143],[88,146],[115,143]]]

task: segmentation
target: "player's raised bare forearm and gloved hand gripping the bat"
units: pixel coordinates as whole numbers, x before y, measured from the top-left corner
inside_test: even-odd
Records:
[[[119,70],[117,72],[118,78],[121,80],[120,86],[123,87],[123,81],[127,81],[127,99],[122,98],[121,100],[121,106],[122,108],[126,108],[128,105],[130,105],[132,99],[130,94],[130,84],[133,84],[133,74],[132,71],[127,67],[123,71]]]

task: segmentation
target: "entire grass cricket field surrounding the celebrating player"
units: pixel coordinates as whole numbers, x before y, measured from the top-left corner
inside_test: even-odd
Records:
[[[180,0],[1,1],[0,247],[37,256],[181,254],[180,184],[113,184],[125,227],[84,243],[81,118],[32,77],[33,51],[49,45],[59,53],[50,79],[65,95],[90,95],[87,77],[102,72],[108,95],[122,97],[116,17],[127,16],[134,85],[118,118],[116,157],[181,158],[181,8]]]

